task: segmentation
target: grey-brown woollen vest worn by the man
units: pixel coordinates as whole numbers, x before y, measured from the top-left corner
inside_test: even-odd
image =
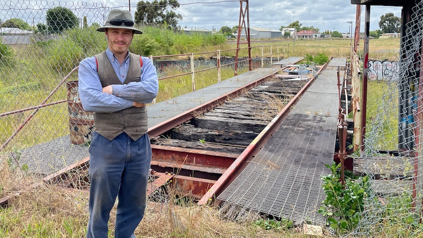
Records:
[[[110,84],[122,84],[116,75],[106,52],[95,55],[98,62],[98,75],[102,87]],[[129,68],[123,84],[139,82],[141,80],[140,56],[129,54]],[[122,132],[126,132],[133,140],[139,139],[148,130],[147,108],[130,107],[124,110],[109,113],[94,113],[95,131],[110,141]]]

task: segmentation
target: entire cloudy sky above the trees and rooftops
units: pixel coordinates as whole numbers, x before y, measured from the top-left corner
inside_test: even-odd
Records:
[[[144,0],[145,1],[145,0]],[[240,2],[239,0],[178,0],[180,7],[177,13],[183,16],[179,25],[183,28],[220,29],[222,26],[238,26]],[[152,0],[149,0],[152,2]],[[0,20],[12,17],[30,19],[33,24],[45,21],[45,11],[50,7],[61,5],[75,8],[80,6],[105,5],[112,8],[129,9],[132,14],[136,10],[138,0],[0,0]],[[243,2],[243,10],[245,9]],[[37,7],[38,10],[37,10]],[[22,9],[32,9],[25,12]],[[401,17],[401,7],[371,6],[370,30],[379,29],[380,16],[393,12]],[[16,16],[15,16],[16,15]],[[337,30],[346,33],[355,21],[356,5],[350,0],[249,0],[250,27],[262,27],[278,30],[281,26],[288,26],[299,21],[302,26],[314,26],[325,30]],[[365,6],[362,7],[361,31],[364,31]],[[78,16],[82,18],[82,16]],[[103,16],[104,18],[105,16]],[[44,18],[44,19],[43,19]],[[100,24],[99,16],[92,17]],[[29,23],[29,22],[28,22]],[[30,23],[30,25],[32,25]]]

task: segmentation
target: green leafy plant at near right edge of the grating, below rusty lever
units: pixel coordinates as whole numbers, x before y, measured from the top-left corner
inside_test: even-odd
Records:
[[[327,217],[327,223],[333,230],[341,233],[352,231],[362,218],[364,202],[369,191],[369,177],[359,177],[356,181],[345,179],[345,185],[342,185],[339,170],[341,164],[332,162],[331,165],[325,166],[332,173],[322,176],[326,199],[318,212]]]

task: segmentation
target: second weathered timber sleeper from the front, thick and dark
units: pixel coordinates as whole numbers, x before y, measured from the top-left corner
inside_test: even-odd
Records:
[[[247,129],[247,128],[246,128]],[[258,133],[239,131],[217,131],[196,128],[193,125],[184,124],[172,130],[172,139],[213,142],[219,144],[248,146],[256,138]]]

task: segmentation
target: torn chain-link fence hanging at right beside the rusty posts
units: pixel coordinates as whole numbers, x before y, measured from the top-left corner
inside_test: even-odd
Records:
[[[369,79],[376,80],[368,85],[366,149],[354,168],[370,175],[372,189],[354,236],[421,237],[423,233],[423,2],[404,8],[403,14],[398,60],[368,65]],[[377,75],[375,69],[383,69],[384,63],[381,74],[387,69],[395,73]]]

